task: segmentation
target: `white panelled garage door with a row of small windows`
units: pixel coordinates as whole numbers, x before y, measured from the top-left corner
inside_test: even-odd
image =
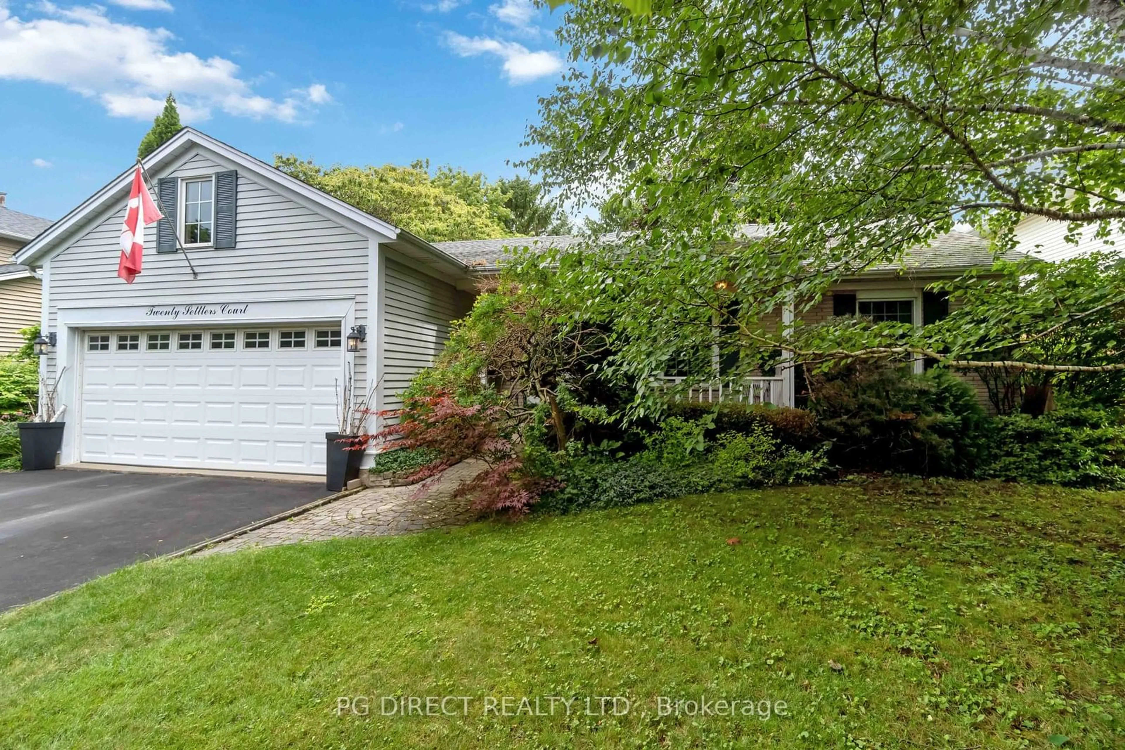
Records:
[[[82,343],[82,461],[324,472],[339,324],[91,331]]]

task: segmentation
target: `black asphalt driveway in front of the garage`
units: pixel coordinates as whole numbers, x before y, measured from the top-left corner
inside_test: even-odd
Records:
[[[328,495],[323,482],[0,473],[0,611]]]

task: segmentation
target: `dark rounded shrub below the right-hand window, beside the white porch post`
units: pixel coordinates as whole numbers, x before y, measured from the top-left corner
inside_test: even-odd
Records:
[[[969,477],[984,458],[988,419],[969,386],[944,369],[919,376],[854,362],[811,376],[810,391],[829,458],[843,468]]]

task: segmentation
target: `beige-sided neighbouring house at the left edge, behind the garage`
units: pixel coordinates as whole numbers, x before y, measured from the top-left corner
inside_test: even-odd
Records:
[[[51,219],[8,208],[0,192],[0,354],[10,354],[24,344],[20,329],[40,317],[39,280],[32,269],[12,262],[16,252],[48,226]]]

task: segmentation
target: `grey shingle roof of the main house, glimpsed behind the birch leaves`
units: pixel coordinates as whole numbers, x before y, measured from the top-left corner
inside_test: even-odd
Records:
[[[738,236],[742,240],[765,237],[773,227],[764,224],[746,224]],[[606,242],[613,235],[604,235]],[[566,250],[582,242],[582,237],[557,235],[544,237],[507,237],[504,240],[462,240],[457,242],[435,242],[435,247],[452,255],[459,261],[482,270],[494,270],[500,262],[512,255],[513,247],[530,246],[532,250]],[[1004,255],[1006,260],[1025,257],[1024,253],[1010,251]],[[907,271],[988,268],[996,256],[988,240],[974,232],[950,232],[930,241],[928,245],[912,247],[907,251],[899,264],[882,264],[872,266],[873,271]]]

